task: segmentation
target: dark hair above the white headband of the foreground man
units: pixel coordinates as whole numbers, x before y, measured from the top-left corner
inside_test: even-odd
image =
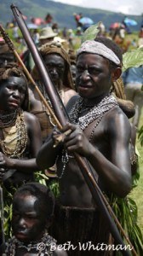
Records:
[[[107,48],[112,49],[114,54],[117,55],[120,62],[123,63],[123,51],[113,40],[111,40],[109,38],[98,38],[97,37],[97,38],[94,38],[94,41],[104,44],[104,45],[106,45]],[[115,66],[116,64],[112,62],[112,65]]]

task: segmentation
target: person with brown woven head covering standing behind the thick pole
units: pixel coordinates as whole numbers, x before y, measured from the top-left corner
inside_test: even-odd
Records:
[[[61,101],[66,105],[72,96],[77,95],[76,91],[73,90],[74,86],[70,70],[70,59],[66,50],[60,43],[52,42],[43,44],[40,49],[40,54],[42,55],[43,61],[49,71],[50,78],[52,79],[56,90],[60,94]],[[37,81],[37,86],[43,93],[46,101],[49,102],[49,96],[47,96],[42,80],[39,77],[37,67],[34,67],[31,74],[33,79]],[[46,137],[52,131],[54,122],[49,116],[48,109],[44,107],[43,102],[37,95],[37,91],[34,90],[33,87],[31,87],[30,93],[30,112],[34,113],[39,120],[44,142]]]

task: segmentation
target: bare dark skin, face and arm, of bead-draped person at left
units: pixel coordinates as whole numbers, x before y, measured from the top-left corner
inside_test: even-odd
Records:
[[[26,94],[26,81],[23,77],[9,77],[0,82],[0,111],[13,113],[24,101]],[[29,156],[26,159],[11,159],[0,152],[0,177],[5,170],[16,169],[14,181],[24,180],[34,171],[38,170],[36,155],[42,144],[41,130],[37,118],[28,112],[24,112],[27,130],[27,150]],[[3,129],[0,129],[0,138],[3,139]]]

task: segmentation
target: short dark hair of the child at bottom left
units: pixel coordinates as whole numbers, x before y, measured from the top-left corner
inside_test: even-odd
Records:
[[[15,192],[14,199],[16,199],[18,195],[36,196],[47,219],[53,217],[54,195],[45,185],[41,183],[26,183]]]

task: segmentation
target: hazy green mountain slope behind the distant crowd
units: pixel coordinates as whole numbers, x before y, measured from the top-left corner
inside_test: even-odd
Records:
[[[82,13],[83,16],[94,20],[94,24],[102,21],[106,25],[106,28],[109,28],[114,22],[122,22],[125,17],[122,13],[102,9],[87,9],[51,0],[20,0],[14,2],[12,2],[12,0],[0,0],[0,23],[3,24],[3,26],[14,18],[12,10],[10,9],[12,3],[20,9],[23,15],[27,16],[27,20],[30,21],[32,17],[41,17],[44,20],[45,16],[50,14],[54,18],[53,22],[58,23],[60,28],[76,28],[73,13]],[[138,25],[133,26],[132,30],[139,31],[142,17],[139,15],[128,15],[128,18],[138,22]]]

